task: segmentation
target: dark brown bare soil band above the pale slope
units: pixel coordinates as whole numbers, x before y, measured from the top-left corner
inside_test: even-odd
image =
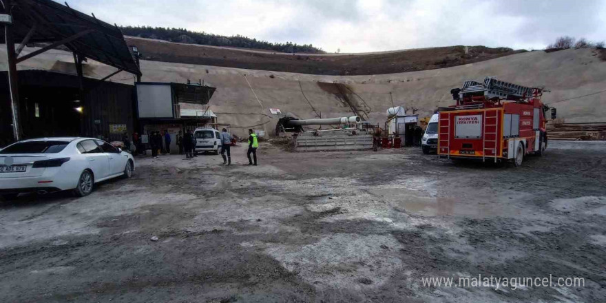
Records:
[[[321,75],[391,74],[433,70],[523,52],[510,48],[473,46],[468,48],[466,54],[465,48],[459,45],[375,54],[284,54],[169,43],[129,36],[125,37],[125,40],[128,45],[136,45],[145,60]]]

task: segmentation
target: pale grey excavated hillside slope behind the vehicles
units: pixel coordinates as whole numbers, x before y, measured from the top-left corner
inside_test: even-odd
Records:
[[[31,52],[34,48],[26,48]],[[279,108],[300,118],[351,116],[356,113],[371,123],[383,125],[392,105],[404,105],[419,116],[429,116],[439,106],[452,104],[450,89],[463,81],[481,81],[496,76],[521,85],[545,85],[551,92],[543,101],[558,109],[566,123],[605,122],[606,62],[593,49],[524,52],[497,59],[416,72],[366,76],[325,76],[265,70],[245,70],[211,65],[142,60],[143,81],[187,83],[187,79],[217,87],[211,109],[220,123],[233,125],[242,135],[252,127],[273,133],[278,117],[269,108]],[[1,60],[6,56],[0,54]],[[6,63],[3,64],[6,69]],[[52,50],[20,63],[19,69],[54,70],[75,74],[73,56]],[[99,79],[112,67],[89,61],[85,76]],[[124,72],[109,81],[134,83]],[[256,97],[255,97],[256,94]],[[588,95],[588,96],[585,96]],[[584,96],[582,98],[576,98]],[[257,97],[259,100],[257,100]],[[571,100],[562,101],[568,98]],[[555,103],[557,102],[557,103]]]

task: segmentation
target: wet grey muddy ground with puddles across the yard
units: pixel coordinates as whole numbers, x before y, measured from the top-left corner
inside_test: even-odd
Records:
[[[0,204],[0,302],[604,302],[606,144],[522,167],[420,149],[138,158],[85,198]],[[151,241],[157,236],[158,241]],[[424,277],[584,286],[424,286]]]

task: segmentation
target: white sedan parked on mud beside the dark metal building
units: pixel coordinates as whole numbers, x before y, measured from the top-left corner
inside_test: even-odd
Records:
[[[87,196],[94,184],[109,178],[130,178],[131,154],[95,138],[23,140],[0,150],[0,196],[21,192],[45,194],[72,189]]]

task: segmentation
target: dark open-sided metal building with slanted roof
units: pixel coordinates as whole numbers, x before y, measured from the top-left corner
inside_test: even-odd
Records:
[[[133,87],[105,82],[118,72],[140,80],[137,59],[121,30],[51,0],[3,0],[0,39],[6,41],[7,72],[0,76],[0,145],[41,136],[105,136],[132,132]],[[24,52],[28,45],[28,52]],[[54,48],[74,55],[77,76],[19,71],[17,65]],[[101,80],[83,77],[83,61],[116,68]],[[21,79],[22,78],[22,79]],[[111,130],[111,131],[110,131]]]

